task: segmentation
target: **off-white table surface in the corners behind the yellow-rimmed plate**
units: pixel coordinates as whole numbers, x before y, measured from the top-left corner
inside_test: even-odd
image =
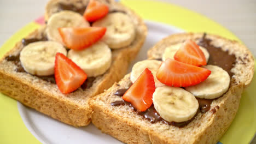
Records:
[[[237,35],[256,56],[256,0],[161,1],[180,5],[220,23]],[[43,15],[47,2],[48,0],[0,0],[0,46],[28,22]],[[256,140],[252,143],[256,143]]]

